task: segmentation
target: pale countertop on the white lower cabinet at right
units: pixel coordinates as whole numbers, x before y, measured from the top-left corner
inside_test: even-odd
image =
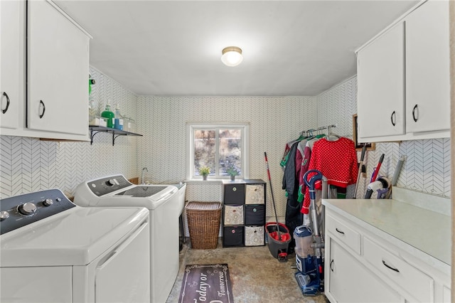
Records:
[[[322,203],[376,235],[376,228],[382,230],[385,240],[450,273],[450,216],[393,199],[323,199]]]

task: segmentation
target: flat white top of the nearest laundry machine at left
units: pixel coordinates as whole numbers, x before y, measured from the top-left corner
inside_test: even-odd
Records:
[[[0,266],[87,265],[137,226],[146,208],[75,207],[0,237]]]

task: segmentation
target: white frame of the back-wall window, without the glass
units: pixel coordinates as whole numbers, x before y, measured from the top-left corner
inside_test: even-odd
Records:
[[[250,178],[250,124],[248,123],[187,123],[186,124],[186,179],[187,180],[202,180],[202,176],[196,176],[194,171],[194,131],[195,129],[218,129],[225,128],[240,128],[242,143],[241,143],[241,153],[242,153],[242,179]],[[215,156],[216,163],[218,164],[218,142],[217,142],[217,154]],[[230,176],[216,176],[210,179],[229,179]]]

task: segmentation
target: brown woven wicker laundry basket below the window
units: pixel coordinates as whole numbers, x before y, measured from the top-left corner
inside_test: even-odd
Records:
[[[186,207],[191,248],[215,249],[218,245],[221,220],[220,202],[189,202]]]

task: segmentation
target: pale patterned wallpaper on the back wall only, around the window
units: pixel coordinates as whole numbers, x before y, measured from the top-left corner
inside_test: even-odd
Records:
[[[250,179],[267,181],[266,151],[277,213],[284,216],[279,161],[287,141],[317,124],[316,112],[316,97],[138,97],[139,132],[144,134],[138,140],[138,171],[147,167],[146,176],[153,183],[182,181],[186,178],[187,122],[249,122]],[[221,201],[221,185],[188,184],[186,198]],[[273,213],[270,191],[267,209]]]

